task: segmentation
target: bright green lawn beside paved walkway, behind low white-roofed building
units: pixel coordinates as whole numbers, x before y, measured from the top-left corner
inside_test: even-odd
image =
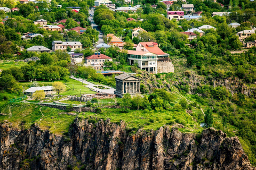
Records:
[[[63,83],[65,83],[63,80],[59,80]],[[51,86],[53,81],[37,81],[39,83],[39,86]],[[28,89],[30,88],[32,82],[20,82],[21,85],[25,88]],[[91,91],[89,88],[84,87],[87,84],[82,84],[82,82],[79,82],[74,79],[68,79],[68,82],[66,83],[67,91],[62,92],[60,95],[63,96],[73,96],[73,95],[83,95],[83,94],[95,94],[95,91]],[[73,90],[74,87],[74,90]],[[81,89],[81,94],[80,94],[80,89]]]

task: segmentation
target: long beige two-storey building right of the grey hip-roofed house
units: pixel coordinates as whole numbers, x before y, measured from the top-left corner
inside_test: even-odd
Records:
[[[52,41],[52,50],[53,52],[55,50],[61,49],[65,50],[67,47],[71,48],[71,52],[74,51],[75,49],[83,49],[83,45],[79,41]]]

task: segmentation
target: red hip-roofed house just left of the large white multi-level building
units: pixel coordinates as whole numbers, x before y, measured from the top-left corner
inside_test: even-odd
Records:
[[[93,55],[85,57],[85,64],[92,66],[95,70],[101,70],[105,62],[113,62],[113,59],[99,52],[95,52]]]

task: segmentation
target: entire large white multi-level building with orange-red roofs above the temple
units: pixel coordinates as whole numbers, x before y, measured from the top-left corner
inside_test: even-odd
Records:
[[[164,53],[154,42],[141,42],[136,50],[127,50],[129,63],[138,63],[141,70],[149,73],[170,73],[174,72],[174,66],[169,54]]]

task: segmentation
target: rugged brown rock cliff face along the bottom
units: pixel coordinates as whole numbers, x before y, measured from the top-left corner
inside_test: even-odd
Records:
[[[212,128],[202,135],[169,126],[129,134],[124,122],[76,119],[67,136],[36,126],[16,130],[5,122],[0,125],[0,169],[256,169],[237,137]]]

